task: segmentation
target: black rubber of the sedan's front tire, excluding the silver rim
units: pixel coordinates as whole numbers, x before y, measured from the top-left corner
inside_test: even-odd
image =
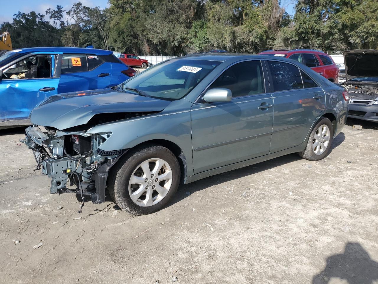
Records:
[[[165,197],[152,206],[139,206],[130,197],[129,181],[136,167],[147,159],[163,159],[172,170],[172,184]],[[159,145],[146,145],[130,150],[118,161],[109,177],[108,189],[113,201],[122,210],[132,215],[152,214],[163,209],[174,196],[180,184],[180,165],[175,155]],[[156,192],[155,192],[156,193]]]

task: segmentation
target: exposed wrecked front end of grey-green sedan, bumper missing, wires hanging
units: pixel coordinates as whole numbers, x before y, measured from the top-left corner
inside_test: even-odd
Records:
[[[109,169],[125,152],[101,150],[110,136],[112,133],[66,132],[34,125],[26,129],[20,142],[33,150],[36,170],[51,178],[51,194],[73,192],[102,203]]]

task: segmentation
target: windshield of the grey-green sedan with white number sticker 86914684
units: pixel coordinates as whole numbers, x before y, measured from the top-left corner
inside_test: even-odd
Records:
[[[179,100],[189,93],[219,61],[172,59],[155,65],[120,85],[124,91],[139,91],[144,95]]]

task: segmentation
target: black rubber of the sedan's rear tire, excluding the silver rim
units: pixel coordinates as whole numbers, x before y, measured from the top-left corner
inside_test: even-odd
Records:
[[[313,150],[314,136],[316,134],[316,131],[318,130],[318,128],[321,125],[327,125],[328,126],[328,129],[329,129],[329,132],[330,132],[330,134],[329,134],[330,137],[329,137],[328,145],[325,148],[324,152],[321,153],[321,154],[316,154]],[[302,158],[304,158],[308,161],[319,161],[329,154],[329,152],[331,150],[332,141],[333,141],[333,126],[332,126],[332,123],[329,119],[327,119],[326,117],[323,117],[321,120],[319,120],[318,123],[316,123],[315,127],[311,131],[310,136],[308,137],[308,141],[307,141],[307,145],[306,145],[305,150],[302,151],[302,152],[299,152],[298,154],[299,154],[299,156],[301,156]]]

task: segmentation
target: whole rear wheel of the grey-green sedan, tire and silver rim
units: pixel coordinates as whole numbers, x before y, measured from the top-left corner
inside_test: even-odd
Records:
[[[311,131],[305,150],[298,154],[308,161],[319,161],[329,154],[332,141],[332,123],[324,117]]]

